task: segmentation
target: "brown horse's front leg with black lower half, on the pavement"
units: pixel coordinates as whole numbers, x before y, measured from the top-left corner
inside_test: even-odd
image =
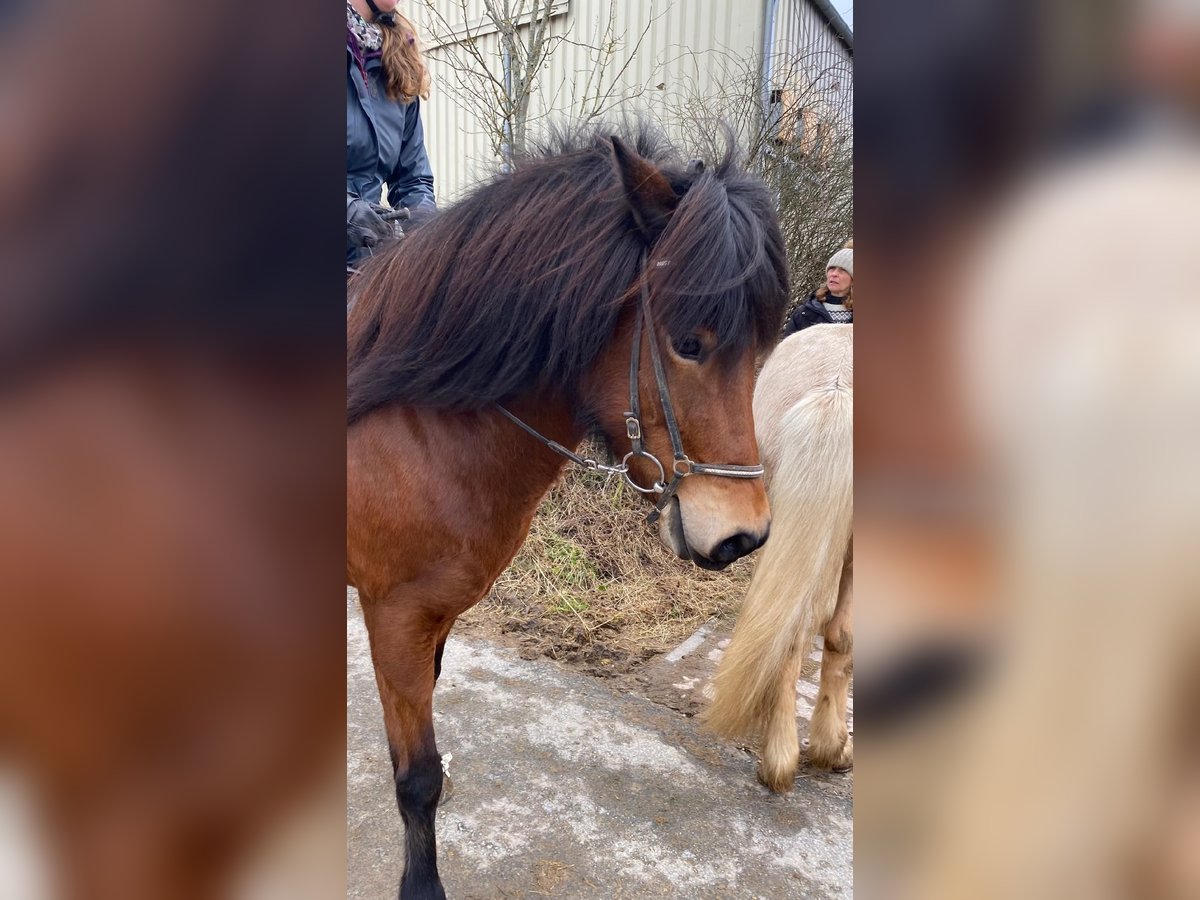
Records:
[[[413,598],[395,592],[384,602],[362,604],[396,803],[404,821],[401,900],[444,900],[438,877],[433,820],[442,794],[442,757],[433,737],[434,660],[445,623],[431,622]]]

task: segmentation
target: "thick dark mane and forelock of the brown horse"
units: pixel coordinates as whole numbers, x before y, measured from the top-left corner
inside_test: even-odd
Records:
[[[622,131],[552,138],[371,262],[347,324],[350,422],[385,403],[473,409],[578,383],[611,340],[646,248],[614,133],[680,196],[649,248],[656,322],[672,337],[708,328],[730,352],[774,342],[787,264],[766,187],[737,168],[732,146],[691,175],[644,124]]]

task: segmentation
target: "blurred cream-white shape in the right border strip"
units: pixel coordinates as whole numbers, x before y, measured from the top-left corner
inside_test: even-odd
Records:
[[[960,372],[1010,628],[914,895],[1200,895],[1171,826],[1198,810],[1170,812],[1195,774],[1198,235],[1200,154],[1172,136],[1043,173],[986,241]]]

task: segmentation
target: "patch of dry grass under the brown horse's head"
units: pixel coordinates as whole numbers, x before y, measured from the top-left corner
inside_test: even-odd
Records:
[[[542,500],[524,546],[468,628],[516,636],[524,655],[628,671],[709,619],[732,620],[752,571],[677,559],[619,478],[572,468]]]

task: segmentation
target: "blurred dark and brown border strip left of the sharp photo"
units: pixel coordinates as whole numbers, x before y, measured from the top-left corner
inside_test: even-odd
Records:
[[[343,50],[244,12],[0,13],[0,895],[343,892]]]

